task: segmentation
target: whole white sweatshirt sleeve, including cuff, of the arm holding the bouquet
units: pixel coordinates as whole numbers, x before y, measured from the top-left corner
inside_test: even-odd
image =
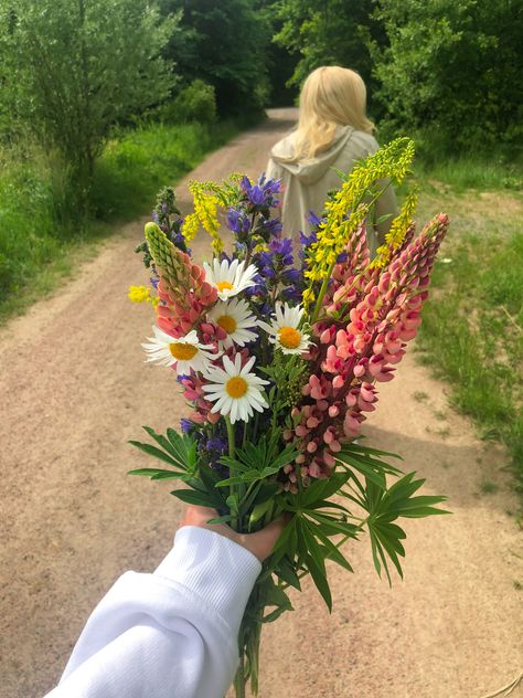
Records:
[[[46,698],[223,698],[262,564],[186,526],[153,574],[126,572],[90,615]]]

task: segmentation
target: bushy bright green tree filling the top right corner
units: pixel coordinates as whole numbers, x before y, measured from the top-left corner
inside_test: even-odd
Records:
[[[522,134],[523,8],[513,0],[382,0],[380,99],[396,127],[460,146]]]

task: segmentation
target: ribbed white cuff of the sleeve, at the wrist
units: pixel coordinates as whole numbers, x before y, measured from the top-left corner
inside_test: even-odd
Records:
[[[262,563],[248,550],[206,528],[184,526],[154,571],[210,604],[236,634]]]

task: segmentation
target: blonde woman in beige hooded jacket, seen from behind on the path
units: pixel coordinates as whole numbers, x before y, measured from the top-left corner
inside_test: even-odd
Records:
[[[377,150],[365,110],[365,83],[354,71],[323,66],[306,80],[298,127],[273,148],[266,171],[267,178],[282,182],[286,235],[297,240],[299,231],[308,233],[310,211],[320,216],[328,191],[340,187],[337,170],[348,173],[356,160]],[[396,213],[396,197],[388,187],[376,202],[374,220],[388,218],[367,229],[372,256]]]

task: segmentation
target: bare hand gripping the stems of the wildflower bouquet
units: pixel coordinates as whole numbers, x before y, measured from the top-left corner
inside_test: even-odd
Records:
[[[215,509],[191,505],[185,509],[185,516],[180,524],[180,528],[183,526],[207,528],[210,531],[225,536],[225,538],[238,543],[238,546],[246,548],[260,562],[273,552],[276,540],[285,526],[284,519],[279,518],[255,533],[237,533],[226,524],[207,524],[209,519],[216,519],[217,517],[218,514]]]

